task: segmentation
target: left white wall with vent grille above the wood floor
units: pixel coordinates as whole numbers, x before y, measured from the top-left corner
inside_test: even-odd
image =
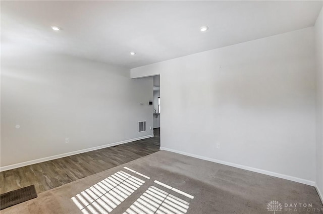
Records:
[[[129,69],[32,48],[6,50],[1,59],[2,167],[152,134],[152,77],[132,80]],[[147,121],[146,132],[138,133],[140,120]]]

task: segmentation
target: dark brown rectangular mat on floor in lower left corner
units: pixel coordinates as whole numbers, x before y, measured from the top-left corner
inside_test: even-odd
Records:
[[[37,197],[35,186],[31,185],[1,194],[0,210]]]

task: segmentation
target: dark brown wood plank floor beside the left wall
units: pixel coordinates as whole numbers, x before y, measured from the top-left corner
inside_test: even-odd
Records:
[[[159,150],[154,137],[1,172],[0,193],[34,184],[37,193],[76,181]]]

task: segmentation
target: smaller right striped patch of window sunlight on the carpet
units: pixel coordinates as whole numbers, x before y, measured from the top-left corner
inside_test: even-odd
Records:
[[[155,183],[158,183],[164,187],[166,185],[158,181],[155,181]],[[173,190],[173,187],[169,185],[166,186],[168,189]],[[194,198],[194,196],[183,191],[178,190],[176,192],[188,198]],[[178,198],[157,187],[150,186],[123,214],[184,214],[187,212],[189,204],[189,202],[181,198]]]

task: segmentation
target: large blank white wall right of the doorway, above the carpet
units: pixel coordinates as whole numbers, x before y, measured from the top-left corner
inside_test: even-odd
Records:
[[[131,69],[131,77],[160,74],[161,147],[314,185],[314,45],[310,27]]]

